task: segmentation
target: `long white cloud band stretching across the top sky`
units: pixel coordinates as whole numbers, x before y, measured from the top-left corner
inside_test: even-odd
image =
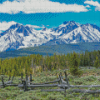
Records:
[[[65,4],[49,0],[15,0],[0,4],[1,13],[46,13],[46,12],[86,12],[85,6],[78,4]]]

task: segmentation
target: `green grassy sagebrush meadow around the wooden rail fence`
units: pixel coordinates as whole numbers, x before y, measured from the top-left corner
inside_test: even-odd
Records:
[[[34,83],[43,83],[57,79],[62,70],[48,71],[36,73],[33,75]],[[100,69],[83,69],[81,77],[75,77],[68,73],[69,83],[71,85],[99,85],[100,84]],[[64,76],[64,73],[62,73]],[[14,83],[21,83],[20,77],[14,78]],[[8,76],[5,76],[5,81]],[[1,81],[1,80],[0,80]],[[100,94],[89,93],[71,93],[66,90],[66,97],[64,92],[41,92],[40,89],[53,89],[53,88],[34,88],[34,90],[24,92],[23,89],[18,87],[0,87],[0,100],[100,100]],[[74,88],[75,89],[75,88]],[[76,88],[78,89],[78,88]],[[80,88],[81,89],[81,88]],[[98,90],[100,88],[82,88],[90,90]]]

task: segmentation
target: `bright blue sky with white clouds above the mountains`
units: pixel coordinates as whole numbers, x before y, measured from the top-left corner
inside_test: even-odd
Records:
[[[100,0],[0,0],[1,30],[12,21],[51,28],[71,20],[100,27]]]

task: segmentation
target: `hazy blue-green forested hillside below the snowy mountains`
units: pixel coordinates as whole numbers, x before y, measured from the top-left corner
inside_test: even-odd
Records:
[[[0,52],[0,58],[10,58],[18,56],[28,56],[31,54],[40,54],[46,56],[52,56],[54,53],[58,54],[68,54],[75,51],[76,53],[89,52],[94,50],[100,50],[99,42],[86,42],[86,43],[76,43],[76,44],[59,44],[59,45],[43,45],[38,47],[23,48],[13,51]]]

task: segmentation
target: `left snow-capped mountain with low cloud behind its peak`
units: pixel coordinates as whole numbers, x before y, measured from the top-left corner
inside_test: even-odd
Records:
[[[33,27],[14,24],[8,30],[0,33],[0,51],[15,50],[25,47],[42,45],[53,39],[53,32],[35,30]]]

